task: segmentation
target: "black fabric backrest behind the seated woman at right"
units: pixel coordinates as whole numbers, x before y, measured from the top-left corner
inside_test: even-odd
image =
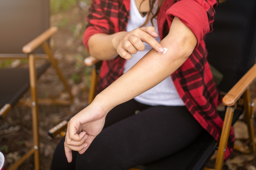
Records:
[[[208,61],[223,74],[228,92],[252,67],[256,55],[256,1],[226,0],[216,8],[213,32],[206,36]]]

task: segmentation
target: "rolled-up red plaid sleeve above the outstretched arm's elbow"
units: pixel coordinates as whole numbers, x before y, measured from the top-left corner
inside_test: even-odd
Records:
[[[166,12],[167,21],[171,25],[172,17],[176,16],[186,24],[197,38],[197,45],[203,36],[212,31],[217,0],[180,0]]]

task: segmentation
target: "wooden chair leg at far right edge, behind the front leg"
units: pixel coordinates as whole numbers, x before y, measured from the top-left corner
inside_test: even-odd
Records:
[[[246,124],[248,126],[249,137],[251,141],[251,151],[253,153],[255,151],[255,142],[254,142],[255,132],[254,132],[254,124],[253,124],[254,104],[251,103],[249,88],[244,92],[243,97],[244,97],[244,112],[245,112]]]

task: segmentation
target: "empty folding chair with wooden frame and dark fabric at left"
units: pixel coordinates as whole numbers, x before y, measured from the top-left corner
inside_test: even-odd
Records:
[[[31,107],[33,122],[34,147],[9,169],[16,169],[33,154],[35,169],[40,169],[38,104],[68,105],[73,100],[68,83],[47,42],[58,29],[57,27],[49,28],[48,0],[15,2],[0,0],[0,25],[0,59],[18,58],[29,61],[29,68],[0,69],[0,118],[3,118],[15,104],[22,104]],[[31,42],[28,43],[29,41]],[[38,48],[39,46],[43,48]],[[26,54],[22,54],[22,51]],[[42,54],[44,52],[45,54]],[[36,59],[46,59],[46,61],[37,67]],[[51,64],[70,94],[70,100],[38,99],[37,78]],[[20,99],[29,87],[31,99]]]

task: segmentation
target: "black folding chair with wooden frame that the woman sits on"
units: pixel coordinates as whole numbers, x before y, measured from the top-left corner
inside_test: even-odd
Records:
[[[250,100],[249,86],[256,78],[256,64],[253,65],[256,56],[256,1],[227,0],[219,4],[216,9],[214,31],[207,35],[206,45],[209,52],[209,63],[223,74],[223,80],[219,84],[226,110],[219,112],[224,120],[220,142],[203,131],[202,134],[188,147],[167,158],[149,163],[147,165],[130,168],[129,170],[210,170],[205,167],[215,150],[218,155],[215,170],[221,170],[227,146],[230,126],[245,112],[246,123],[251,140],[250,151],[255,151],[253,106]],[[97,60],[90,57],[86,63],[95,64]],[[99,72],[99,66],[93,66],[95,78]],[[94,80],[95,78],[92,78]],[[91,89],[95,89],[92,82]],[[95,97],[95,92],[90,90],[89,102]],[[238,105],[238,107],[235,107]],[[67,120],[68,121],[68,120]],[[54,127],[61,131],[64,126]],[[54,129],[53,128],[53,129]],[[51,130],[53,130],[51,129]],[[54,134],[49,131],[49,134]]]

